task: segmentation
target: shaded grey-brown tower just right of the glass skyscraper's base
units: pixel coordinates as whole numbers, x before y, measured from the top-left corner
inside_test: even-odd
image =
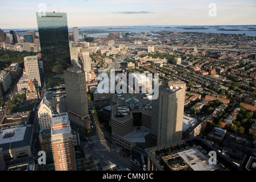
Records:
[[[64,71],[68,117],[72,124],[90,130],[85,72],[79,67]]]

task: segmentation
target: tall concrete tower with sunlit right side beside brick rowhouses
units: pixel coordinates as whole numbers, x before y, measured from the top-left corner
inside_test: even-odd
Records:
[[[184,114],[185,82],[169,81],[159,87],[159,97],[152,100],[151,134],[157,144],[181,140]]]

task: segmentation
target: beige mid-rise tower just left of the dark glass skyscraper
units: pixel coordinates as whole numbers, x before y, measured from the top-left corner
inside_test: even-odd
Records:
[[[29,80],[32,80],[35,84],[36,89],[42,86],[41,84],[41,73],[39,69],[39,60],[38,56],[27,56],[24,57],[24,68],[26,75]]]

